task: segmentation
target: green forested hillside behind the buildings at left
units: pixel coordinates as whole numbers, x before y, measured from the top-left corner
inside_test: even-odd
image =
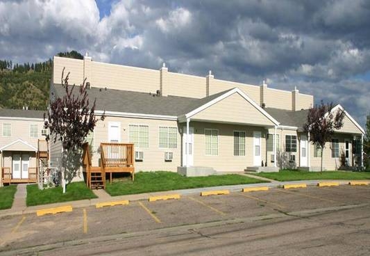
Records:
[[[79,58],[77,51],[60,52],[58,56]],[[45,110],[49,102],[49,86],[53,61],[13,63],[0,61],[0,108]]]

